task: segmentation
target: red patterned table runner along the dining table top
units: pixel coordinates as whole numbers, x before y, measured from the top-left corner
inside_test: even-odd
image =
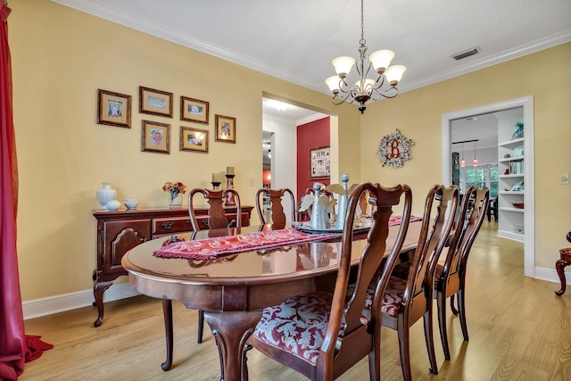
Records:
[[[400,225],[401,216],[392,216],[389,226]],[[410,222],[420,220],[411,216]],[[178,241],[153,252],[158,258],[184,258],[187,260],[212,260],[222,254],[236,254],[253,250],[325,241],[342,236],[342,233],[310,234],[295,228],[265,230],[236,236],[218,236],[194,241]]]

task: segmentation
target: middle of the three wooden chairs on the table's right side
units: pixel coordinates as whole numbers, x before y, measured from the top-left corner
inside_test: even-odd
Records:
[[[438,258],[453,226],[458,204],[458,186],[435,185],[426,195],[422,227],[418,245],[410,262],[395,266],[381,305],[368,302],[368,309],[379,309],[383,315],[383,326],[394,329],[399,336],[402,377],[412,379],[410,371],[410,327],[423,318],[426,336],[426,350],[430,371],[438,374],[434,355],[434,335],[432,330],[432,287],[433,259]],[[375,295],[375,284],[368,288],[368,300]]]

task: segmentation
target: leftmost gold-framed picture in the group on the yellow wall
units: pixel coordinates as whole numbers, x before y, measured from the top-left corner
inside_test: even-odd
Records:
[[[97,89],[97,123],[131,128],[131,95]]]

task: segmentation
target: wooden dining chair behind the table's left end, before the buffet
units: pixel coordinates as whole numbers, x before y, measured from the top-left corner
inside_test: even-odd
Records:
[[[234,189],[206,189],[206,188],[194,188],[188,194],[188,214],[190,214],[190,222],[193,226],[194,231],[198,231],[201,227],[198,225],[196,215],[194,213],[194,195],[202,194],[210,208],[208,209],[208,220],[207,226],[209,229],[223,229],[231,228],[236,226],[236,228],[242,228],[242,207],[240,204],[240,195]],[[232,219],[228,222],[226,218],[226,211],[224,210],[223,202],[228,200],[229,195],[234,195],[236,200],[236,219]],[[203,342],[203,330],[204,330],[204,311],[198,311],[198,334],[196,335],[196,341],[198,344]]]

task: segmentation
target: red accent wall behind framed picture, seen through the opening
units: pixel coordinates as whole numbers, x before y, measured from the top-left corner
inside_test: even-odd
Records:
[[[310,149],[329,145],[329,117],[297,126],[297,195],[301,196],[313,183],[329,185],[329,178],[310,179]]]

